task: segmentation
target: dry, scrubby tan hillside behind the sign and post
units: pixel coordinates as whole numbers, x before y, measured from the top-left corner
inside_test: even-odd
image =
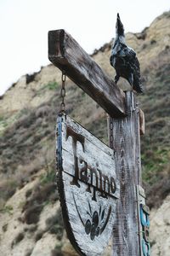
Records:
[[[170,12],[167,12],[143,32],[126,35],[127,44],[139,57],[145,87],[138,101],[146,123],[141,152],[144,187],[148,204],[153,208],[152,255],[164,256],[168,255],[170,234],[166,214],[161,219],[170,209],[167,202],[170,194],[169,27]],[[115,73],[109,63],[111,44],[95,50],[93,58],[113,78]],[[63,229],[55,183],[54,137],[60,76],[53,65],[42,67],[38,73],[21,77],[0,99],[0,254],[3,256],[76,255]],[[119,85],[129,88],[123,79]],[[65,103],[71,118],[108,142],[105,111],[69,79]]]

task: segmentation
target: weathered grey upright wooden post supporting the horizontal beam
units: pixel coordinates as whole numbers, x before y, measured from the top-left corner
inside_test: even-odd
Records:
[[[116,153],[116,175],[120,179],[120,200],[113,229],[113,256],[139,256],[139,219],[136,186],[141,180],[139,108],[132,91],[126,92],[127,117],[113,119],[110,137]],[[111,123],[113,125],[111,125]]]

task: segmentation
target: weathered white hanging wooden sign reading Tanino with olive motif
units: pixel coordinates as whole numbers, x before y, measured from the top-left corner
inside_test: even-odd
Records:
[[[111,238],[120,194],[114,152],[65,114],[57,125],[57,177],[65,229],[78,253],[100,255]]]

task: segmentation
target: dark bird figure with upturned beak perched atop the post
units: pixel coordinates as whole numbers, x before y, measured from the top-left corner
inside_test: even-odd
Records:
[[[139,61],[135,51],[125,42],[124,27],[119,14],[116,20],[116,39],[111,50],[111,66],[116,69],[115,83],[120,77],[127,79],[133,90],[143,92],[140,79]]]

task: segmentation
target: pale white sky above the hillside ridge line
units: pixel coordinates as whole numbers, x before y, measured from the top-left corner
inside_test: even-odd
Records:
[[[169,0],[0,0],[0,95],[49,64],[49,30],[64,28],[91,54],[115,37],[117,12],[125,32],[141,32],[169,9]]]

